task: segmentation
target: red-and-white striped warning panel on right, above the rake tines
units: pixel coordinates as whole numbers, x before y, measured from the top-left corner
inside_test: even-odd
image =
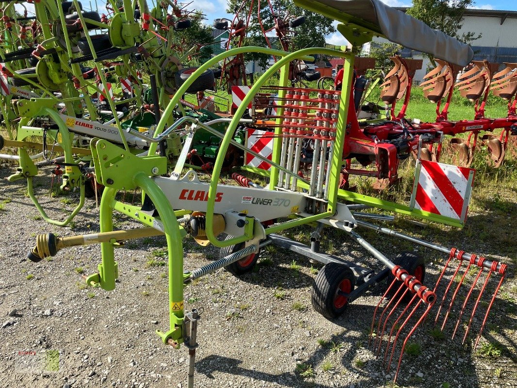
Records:
[[[465,222],[476,170],[417,160],[409,207]]]

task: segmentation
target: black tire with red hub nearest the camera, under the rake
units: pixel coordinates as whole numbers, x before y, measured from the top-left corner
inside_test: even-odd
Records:
[[[348,307],[348,299],[338,291],[349,294],[354,290],[355,283],[355,275],[346,265],[325,264],[312,285],[312,307],[327,319],[339,317]]]

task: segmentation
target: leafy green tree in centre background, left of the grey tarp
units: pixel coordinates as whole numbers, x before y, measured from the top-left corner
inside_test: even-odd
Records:
[[[241,5],[244,3],[244,6]],[[295,51],[307,47],[323,47],[325,36],[336,32],[332,26],[332,20],[324,16],[296,7],[290,0],[271,0],[271,7],[268,1],[260,2],[260,19],[264,31],[275,26],[275,17],[284,20],[288,16],[299,17],[305,15],[305,23],[294,29],[294,36],[287,39],[288,50]],[[256,0],[230,0],[226,12],[235,14],[239,12],[239,18],[246,20],[251,8],[251,17],[247,29],[245,46],[268,47],[258,18],[258,2]],[[271,11],[272,8],[272,11]],[[292,35],[292,34],[291,34]],[[282,50],[282,44],[276,39],[276,31],[273,29],[267,34],[273,49]],[[273,39],[271,39],[273,38]],[[245,56],[246,61],[258,61],[266,67],[269,55],[249,53]]]

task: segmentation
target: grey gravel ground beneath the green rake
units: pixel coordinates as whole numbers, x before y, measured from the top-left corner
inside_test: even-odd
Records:
[[[5,178],[11,171],[4,166],[0,175]],[[0,247],[0,315],[5,315],[0,329],[0,386],[186,387],[187,350],[165,346],[155,334],[157,329],[168,329],[168,286],[166,266],[149,266],[148,261],[160,264],[166,260],[164,237],[131,241],[116,249],[119,281],[115,291],[86,288],[82,276],[97,271],[98,246],[69,248],[53,260],[38,264],[27,261],[25,255],[38,233],[98,231],[95,203],[87,201],[74,219],[73,229],[57,228],[39,219],[23,192],[20,182],[3,181],[0,186],[0,202],[4,201],[0,211],[4,231]],[[71,209],[76,200],[72,195],[66,197],[67,203],[48,198],[43,203],[45,208],[57,207],[50,213],[62,217],[60,208]],[[515,219],[509,222],[514,230]],[[119,228],[138,226],[124,218],[118,218],[116,224]],[[302,228],[292,231],[302,240],[307,238],[307,232]],[[435,241],[445,238],[443,231],[434,227],[421,233]],[[450,238],[463,244],[465,250],[480,249],[474,244],[476,240],[465,233],[453,232]],[[408,249],[399,241],[379,238],[371,232],[363,234],[390,257]],[[325,247],[339,256],[379,268],[344,234],[331,233]],[[219,256],[215,248],[200,249],[191,240],[185,243],[185,250],[187,269]],[[483,246],[483,253],[510,262],[509,258],[495,255],[497,252],[496,242],[494,246]],[[425,253],[434,262],[429,271],[436,273],[440,265],[437,257]],[[250,274],[236,278],[219,270],[188,286],[186,308],[202,311],[195,386],[391,386],[393,368],[386,372],[382,359],[377,360],[368,347],[373,310],[385,285],[374,287],[331,322],[317,314],[310,303],[311,286],[319,268],[321,265],[311,264],[292,252],[268,248]],[[513,274],[513,267],[510,272]],[[515,289],[515,280],[509,276],[503,289],[506,300],[496,300],[492,324],[485,330],[487,339],[482,340],[485,345],[500,342],[500,356],[479,355],[457,339],[451,342],[433,338],[429,335],[431,326],[426,323],[413,338],[421,351],[404,355],[398,385],[517,386]],[[37,362],[53,354],[52,350],[59,351],[58,370],[43,370]],[[300,363],[310,366],[312,373],[310,369],[300,372]]]

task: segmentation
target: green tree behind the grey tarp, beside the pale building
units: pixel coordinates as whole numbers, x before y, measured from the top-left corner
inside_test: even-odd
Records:
[[[439,29],[463,43],[470,44],[481,38],[481,34],[465,32],[459,35],[459,31],[463,26],[465,10],[474,4],[474,0],[413,0],[413,6],[406,13],[431,28]],[[426,56],[433,63],[432,55]]]

